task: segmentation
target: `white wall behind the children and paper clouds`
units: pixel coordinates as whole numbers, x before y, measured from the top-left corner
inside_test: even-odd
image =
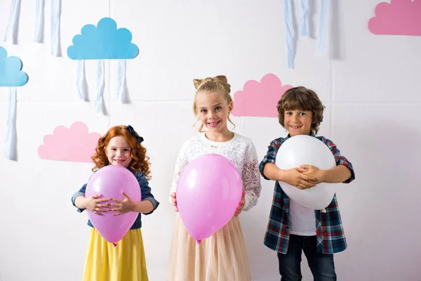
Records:
[[[0,35],[11,1],[0,4]],[[319,93],[326,105],[320,134],[354,164],[356,181],[338,200],[349,248],[335,255],[339,280],[421,280],[420,137],[421,37],[371,34],[378,0],[332,1],[328,53],[317,53],[319,4],[310,1],[313,38],[298,37],[295,69],[286,65],[283,1],[62,1],[63,53],[83,25],[111,16],[133,33],[140,54],[127,65],[132,103],[118,105],[116,62],[106,65],[109,116],[78,99],[76,63],[33,43],[34,1],[23,0],[19,44],[0,42],[23,62],[29,82],[18,89],[18,162],[0,155],[0,280],[80,280],[88,240],[86,213],[70,202],[91,164],[40,159],[37,148],[56,126],[82,121],[90,131],[131,124],[145,138],[152,190],[161,202],[144,217],[149,278],[165,280],[174,212],[167,204],[180,145],[193,136],[192,79],[225,74],[232,93],[274,73]],[[297,20],[300,1],[295,0]],[[319,1],[316,1],[319,2]],[[330,43],[329,43],[330,44]],[[86,63],[90,99],[95,62]],[[264,93],[262,93],[263,95]],[[0,139],[6,133],[8,90],[0,88]],[[234,117],[235,131],[252,138],[260,159],[285,131],[276,118]],[[241,214],[253,280],[279,280],[276,253],[263,244],[274,182],[262,180],[258,205]],[[303,256],[303,280],[312,280]]]

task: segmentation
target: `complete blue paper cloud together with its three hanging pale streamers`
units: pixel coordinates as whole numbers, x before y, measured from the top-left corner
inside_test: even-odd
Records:
[[[72,60],[77,60],[76,85],[79,98],[88,101],[88,86],[86,83],[85,60],[98,60],[97,63],[97,94],[95,110],[106,115],[104,103],[105,89],[105,63],[106,59],[119,60],[118,92],[116,100],[128,103],[126,86],[126,59],[135,58],[139,48],[131,43],[132,34],[126,28],[117,29],[117,24],[112,18],[102,18],[95,25],[85,25],[81,34],[73,37],[73,45],[67,48],[67,55]]]

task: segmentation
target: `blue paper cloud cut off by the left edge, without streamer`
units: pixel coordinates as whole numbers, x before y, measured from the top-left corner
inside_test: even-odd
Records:
[[[22,71],[22,62],[17,57],[7,57],[7,51],[0,46],[0,86],[18,87],[27,84],[28,75]]]

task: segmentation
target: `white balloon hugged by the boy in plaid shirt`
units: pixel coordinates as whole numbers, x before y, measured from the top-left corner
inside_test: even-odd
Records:
[[[288,170],[309,164],[321,170],[336,166],[335,157],[328,146],[313,136],[298,135],[288,138],[276,154],[276,166]],[[313,188],[300,190],[293,185],[279,181],[283,191],[298,204],[320,210],[328,207],[335,195],[335,184],[319,183]]]

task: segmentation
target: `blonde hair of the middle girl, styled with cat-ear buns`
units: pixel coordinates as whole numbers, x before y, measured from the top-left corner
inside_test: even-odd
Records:
[[[196,98],[199,93],[221,93],[222,96],[227,101],[227,104],[232,103],[234,105],[234,101],[232,100],[231,95],[229,94],[231,92],[231,85],[228,84],[227,77],[225,75],[218,75],[215,77],[207,77],[205,79],[194,79],[194,88],[196,88],[196,93],[194,94],[194,100],[193,100],[193,112],[194,116],[196,117],[196,122],[193,123],[193,126],[199,121],[199,112],[197,112],[196,107]],[[228,113],[228,121],[234,125],[235,124],[229,119],[229,113]],[[199,132],[203,133],[203,124],[200,124]]]

